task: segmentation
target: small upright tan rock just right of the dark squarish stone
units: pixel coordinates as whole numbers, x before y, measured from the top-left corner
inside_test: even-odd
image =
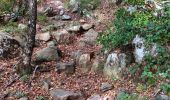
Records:
[[[79,66],[81,67],[81,71],[86,73],[90,70],[90,55],[82,54],[79,59]]]

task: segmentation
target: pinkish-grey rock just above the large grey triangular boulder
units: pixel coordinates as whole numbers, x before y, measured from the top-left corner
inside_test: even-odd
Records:
[[[52,33],[58,43],[69,44],[73,42],[73,37],[66,30],[59,30]]]

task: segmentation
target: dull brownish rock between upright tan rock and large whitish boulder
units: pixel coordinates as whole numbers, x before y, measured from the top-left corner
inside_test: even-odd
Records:
[[[91,70],[97,74],[103,73],[104,64],[105,64],[104,59],[96,58],[93,61]]]

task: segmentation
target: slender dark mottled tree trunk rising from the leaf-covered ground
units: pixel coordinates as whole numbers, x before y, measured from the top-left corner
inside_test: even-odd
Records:
[[[22,60],[23,66],[20,74],[29,74],[32,71],[31,57],[33,53],[35,35],[36,35],[36,19],[37,19],[37,0],[29,0],[29,24],[28,33],[26,34],[26,43],[23,48]]]

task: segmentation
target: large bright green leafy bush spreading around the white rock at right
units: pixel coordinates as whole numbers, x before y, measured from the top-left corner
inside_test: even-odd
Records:
[[[138,0],[128,1],[130,4],[142,4],[137,2]],[[165,7],[163,16],[156,17],[153,12],[143,9],[141,6],[138,6],[133,12],[120,8],[116,12],[113,26],[99,37],[99,42],[105,49],[129,45],[137,34],[145,38],[146,49],[156,43],[157,57],[147,55],[143,64],[130,68],[132,73],[140,69],[141,78],[152,85],[158,79],[170,79],[170,53],[166,48],[170,43],[170,7]]]

